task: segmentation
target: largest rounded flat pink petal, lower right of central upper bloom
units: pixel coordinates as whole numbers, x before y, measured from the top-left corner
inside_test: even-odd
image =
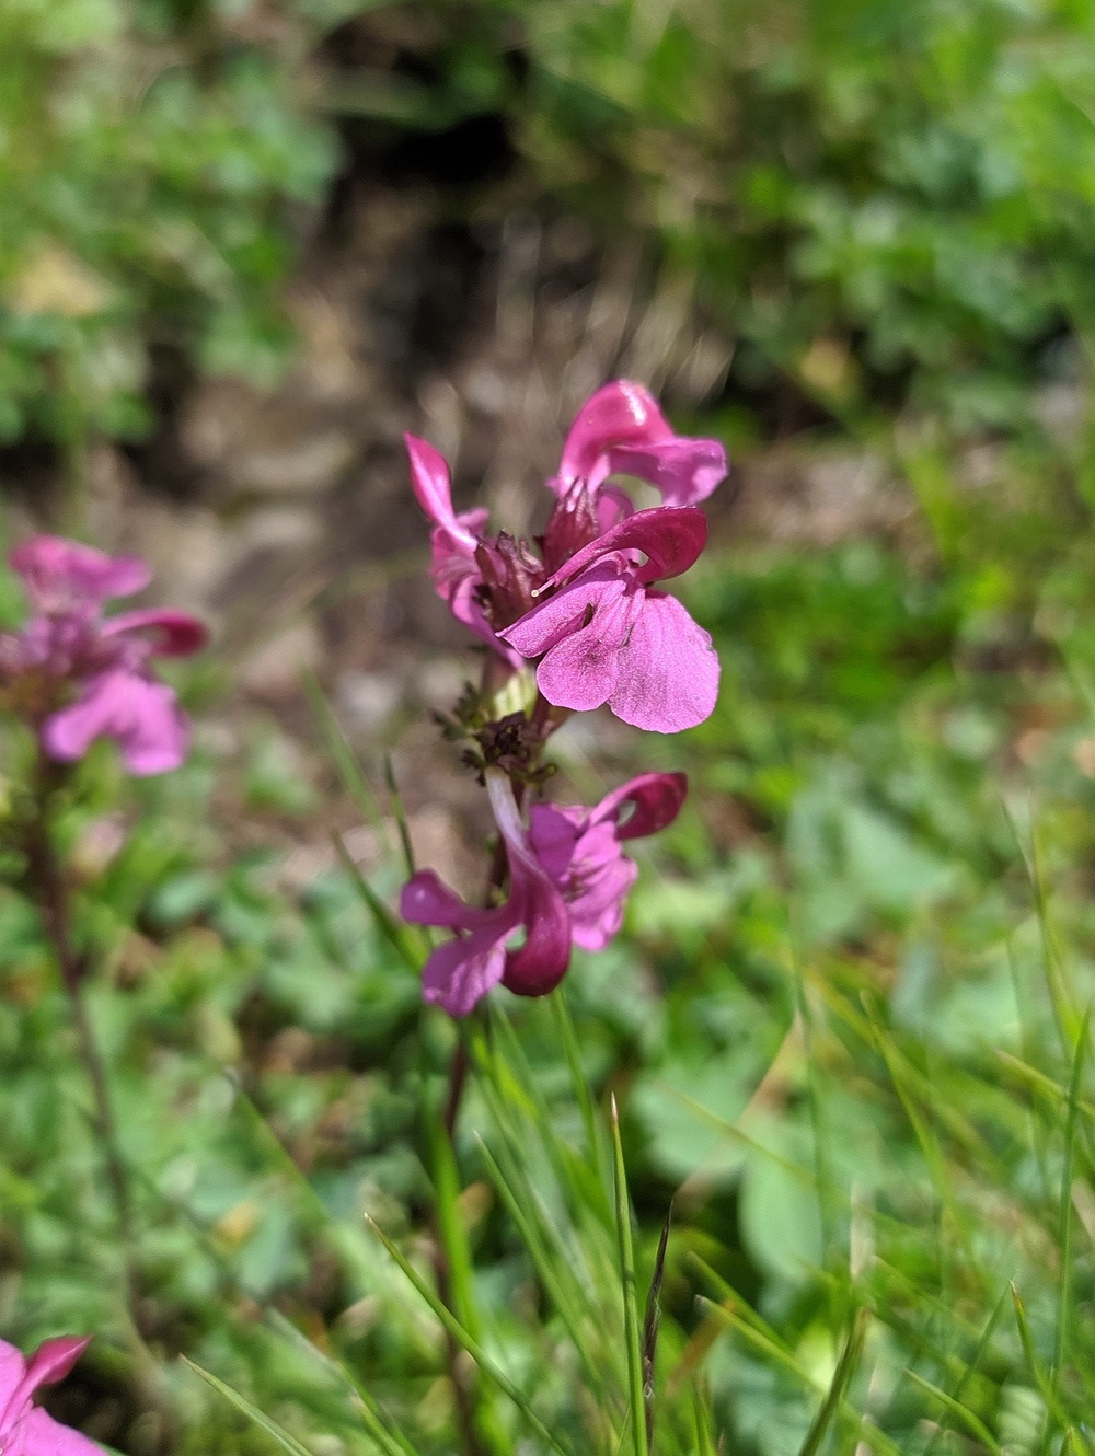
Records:
[[[619,652],[617,686],[609,708],[635,728],[680,732],[711,716],[718,683],[719,661],[711,636],[674,597],[647,593]]]

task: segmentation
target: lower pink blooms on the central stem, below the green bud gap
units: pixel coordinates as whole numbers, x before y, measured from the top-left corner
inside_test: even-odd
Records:
[[[644,773],[594,808],[537,804],[529,828],[499,769],[486,770],[486,791],[510,865],[505,901],[469,906],[424,869],[403,885],[399,903],[405,920],[456,932],[422,971],[425,999],[451,1016],[466,1016],[499,981],[517,996],[546,996],[566,974],[571,945],[598,951],[609,943],[638,874],[620,843],[671,824],[687,779]],[[628,807],[632,812],[623,818]],[[520,930],[524,942],[511,948]]]

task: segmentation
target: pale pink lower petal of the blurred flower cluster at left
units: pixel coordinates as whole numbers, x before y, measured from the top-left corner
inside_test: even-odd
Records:
[[[74,703],[42,725],[45,751],[63,763],[82,759],[96,738],[114,738],[125,767],[143,778],[178,769],[189,728],[170,687],[114,668],[87,681]]]

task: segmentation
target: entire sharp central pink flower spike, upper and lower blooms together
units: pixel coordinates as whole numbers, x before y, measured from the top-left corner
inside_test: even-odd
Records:
[[[534,665],[539,697],[552,708],[607,703],[655,732],[709,716],[719,681],[711,638],[658,584],[703,550],[697,505],[727,473],[718,441],[674,434],[641,384],[606,384],[580,411],[548,482],[555,504],[537,550],[505,531],[488,536],[482,508],[456,513],[444,459],[424,440],[406,443],[414,491],[432,521],[434,585],[497,661]],[[636,510],[617,475],[655,486],[663,504]],[[485,751],[472,761],[505,855],[505,898],[469,906],[432,871],[403,887],[403,919],[454,932],[424,970],[425,999],[453,1016],[499,981],[543,996],[566,973],[572,945],[606,946],[636,875],[622,842],[671,824],[684,801],[684,775],[647,773],[594,808],[533,804],[526,821],[520,804],[539,782],[534,760],[552,727],[552,715],[534,709],[476,734]]]

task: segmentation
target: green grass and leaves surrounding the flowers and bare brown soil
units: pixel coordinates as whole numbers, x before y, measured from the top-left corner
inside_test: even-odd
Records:
[[[633,240],[636,287],[725,339],[705,428],[753,460],[789,432],[869,448],[907,499],[894,530],[751,536],[693,574],[719,709],[628,748],[687,767],[692,807],[569,1015],[507,1002],[476,1029],[459,1174],[416,942],[345,868],[300,888],[240,849],[240,821],[284,840],[336,794],[373,812],[322,709],[341,788],[287,772],[277,734],[202,738],[140,786],[84,766],[61,837],[138,1206],[133,1322],[10,856],[0,893],[0,1326],[99,1337],[58,1414],[133,1456],[274,1449],[182,1353],[316,1456],[392,1449],[354,1385],[453,1450],[440,1325],[368,1213],[427,1281],[441,1241],[481,1364],[550,1437],[617,1449],[614,1093],[639,1302],[674,1200],[660,1449],[1091,1450],[1095,6],[54,0],[0,32],[0,430],[77,483],[185,381],[287,367],[282,284],[363,157],[473,143],[517,160],[494,191],[472,169],[450,218]],[[216,721],[216,671],[183,687]],[[606,764],[559,751],[596,796]],[[12,743],[6,794],[19,770]],[[483,1450],[549,1449],[475,1389]]]

